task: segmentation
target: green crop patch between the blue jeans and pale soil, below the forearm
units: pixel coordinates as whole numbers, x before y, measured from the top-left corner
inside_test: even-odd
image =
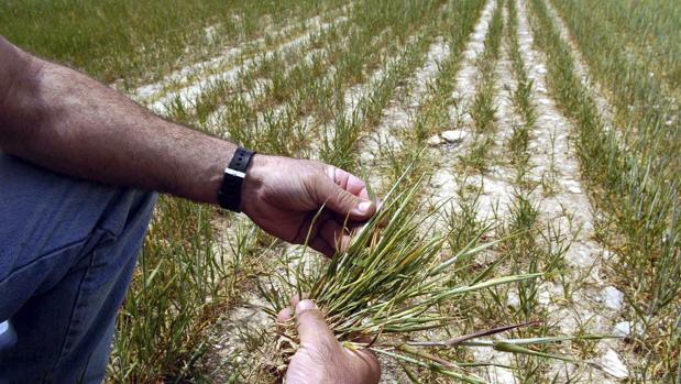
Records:
[[[211,209],[162,197],[116,323],[114,382],[191,377],[227,296],[229,266],[212,249]]]

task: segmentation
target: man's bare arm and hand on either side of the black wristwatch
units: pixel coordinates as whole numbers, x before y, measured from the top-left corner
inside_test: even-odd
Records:
[[[217,204],[235,145],[165,121],[0,37],[0,150],[86,179]],[[376,208],[364,183],[342,169],[261,154],[241,196],[243,212],[265,231],[307,240],[329,256],[349,241],[345,218],[363,221]]]

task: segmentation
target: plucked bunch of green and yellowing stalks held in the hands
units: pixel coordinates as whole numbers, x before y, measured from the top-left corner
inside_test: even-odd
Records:
[[[404,185],[409,169],[396,180],[386,194],[380,210],[366,224],[354,232],[348,248],[338,252],[326,265],[311,263],[304,255],[297,265],[284,261],[285,272],[271,275],[261,285],[261,293],[270,304],[266,311],[276,317],[288,306],[292,296],[307,296],[317,303],[338,339],[350,349],[370,349],[405,364],[408,375],[427,369],[466,383],[484,383],[468,366],[484,365],[448,361],[438,355],[438,349],[459,347],[493,348],[497,351],[559,359],[576,363],[572,358],[552,354],[532,345],[574,340],[572,337],[530,339],[480,340],[483,337],[529,327],[524,322],[459,336],[447,340],[419,340],[426,330],[444,329],[454,320],[442,315],[438,307],[455,303],[469,295],[498,285],[527,282],[541,273],[491,277],[493,264],[468,278],[458,278],[457,268],[472,257],[495,246],[499,241],[481,242],[480,234],[451,255],[442,257],[442,246],[450,233],[440,234],[433,228],[420,228],[426,221],[420,208],[410,209],[422,177]],[[437,211],[437,210],[436,210]],[[429,213],[433,215],[433,213]],[[303,251],[305,252],[305,251]],[[283,366],[299,345],[293,322],[278,331]],[[358,341],[370,336],[370,342]],[[416,338],[416,339],[413,339]],[[602,337],[583,336],[576,339]]]

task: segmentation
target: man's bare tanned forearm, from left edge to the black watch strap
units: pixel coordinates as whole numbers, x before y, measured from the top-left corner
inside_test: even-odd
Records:
[[[167,122],[0,37],[0,149],[101,183],[216,202],[235,146]]]

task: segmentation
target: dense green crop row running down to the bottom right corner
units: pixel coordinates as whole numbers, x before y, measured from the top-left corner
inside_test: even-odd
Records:
[[[548,86],[578,127],[582,171],[591,189],[597,191],[592,198],[604,213],[598,238],[617,253],[612,278],[623,287],[630,316],[644,328],[640,336],[634,336],[641,355],[635,377],[641,382],[679,380],[681,344],[678,338],[668,337],[679,332],[675,318],[681,309],[679,184],[660,172],[663,166],[657,167],[669,164],[671,155],[655,142],[644,153],[626,150],[616,132],[605,130],[546,3],[532,0],[531,6],[536,42],[548,54]]]

